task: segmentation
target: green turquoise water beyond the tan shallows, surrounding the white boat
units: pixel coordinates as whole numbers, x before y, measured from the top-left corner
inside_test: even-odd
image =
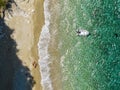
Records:
[[[120,0],[58,3],[59,22],[51,16],[50,29],[57,30],[52,39],[57,38],[55,49],[61,57],[54,60],[60,61],[61,68],[58,90],[120,90]],[[78,28],[90,35],[77,36]]]

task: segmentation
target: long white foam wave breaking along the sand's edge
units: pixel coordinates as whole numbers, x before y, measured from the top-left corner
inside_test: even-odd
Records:
[[[39,43],[39,65],[41,73],[41,84],[43,90],[53,90],[51,79],[50,79],[50,60],[48,53],[48,45],[50,41],[49,25],[50,25],[50,13],[48,10],[49,1],[44,1],[44,15],[45,15],[45,25],[42,28]]]

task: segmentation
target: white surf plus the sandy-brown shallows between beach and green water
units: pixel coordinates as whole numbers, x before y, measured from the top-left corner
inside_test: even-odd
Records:
[[[42,28],[39,41],[39,64],[42,77],[41,83],[45,90],[62,89],[61,68],[59,66],[60,53],[56,49],[59,40],[56,33],[57,26],[56,24],[53,25],[53,23],[59,23],[59,8],[53,9],[57,5],[59,5],[59,3],[54,0],[51,2],[45,0],[44,2],[45,25]]]

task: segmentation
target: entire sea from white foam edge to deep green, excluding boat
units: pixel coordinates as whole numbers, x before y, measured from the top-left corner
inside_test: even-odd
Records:
[[[44,6],[43,89],[120,90],[120,0],[45,0]],[[77,36],[79,28],[90,35]]]

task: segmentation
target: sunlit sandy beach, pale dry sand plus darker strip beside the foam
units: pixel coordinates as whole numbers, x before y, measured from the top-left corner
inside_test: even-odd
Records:
[[[27,88],[25,90],[42,90],[40,85],[37,43],[41,28],[44,24],[43,1],[44,0],[15,0],[16,4],[12,4],[12,12],[6,11],[5,13],[5,23],[9,28],[13,29],[11,38],[17,44],[16,48],[18,52],[16,55],[21,60],[22,65],[29,69],[31,78],[34,80],[33,88]],[[20,82],[17,81],[17,77],[22,77],[20,76],[20,72],[24,73],[23,77],[27,76],[27,73],[23,68],[17,67],[17,65],[14,65],[14,68],[14,83],[19,84]],[[16,88],[17,84],[15,86]],[[22,90],[24,90],[24,87],[22,88]]]

